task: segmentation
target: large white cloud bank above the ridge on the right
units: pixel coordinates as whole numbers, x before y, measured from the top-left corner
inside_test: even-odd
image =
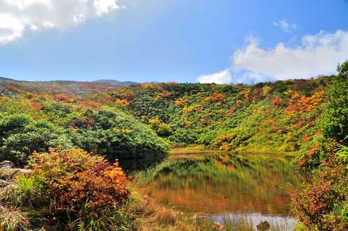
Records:
[[[260,41],[249,39],[246,46],[232,55],[231,71],[234,83],[255,83],[269,80],[308,79],[319,74],[333,74],[337,63],[348,58],[348,31],[304,35],[301,45],[288,47],[283,42],[264,49]],[[203,77],[214,77],[216,83],[226,83],[219,72]],[[213,78],[212,78],[213,79]]]

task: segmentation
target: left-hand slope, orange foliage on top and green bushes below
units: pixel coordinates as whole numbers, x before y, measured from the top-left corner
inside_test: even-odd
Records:
[[[66,84],[5,82],[1,86],[1,160],[23,166],[33,151],[58,147],[84,148],[111,161],[167,152],[162,138],[116,107],[108,95],[115,87],[77,83],[70,84],[75,89],[70,90]]]

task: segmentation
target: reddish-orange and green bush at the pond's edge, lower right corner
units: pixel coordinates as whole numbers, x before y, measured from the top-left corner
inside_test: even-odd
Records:
[[[333,147],[326,147],[326,157],[310,182],[292,194],[294,214],[311,230],[347,230],[347,168]]]

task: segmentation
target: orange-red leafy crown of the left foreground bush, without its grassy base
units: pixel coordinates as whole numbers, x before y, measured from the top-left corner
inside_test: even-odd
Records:
[[[129,197],[127,178],[118,163],[110,165],[81,149],[35,153],[31,166],[33,174],[45,177],[56,211],[98,212],[120,206]]]

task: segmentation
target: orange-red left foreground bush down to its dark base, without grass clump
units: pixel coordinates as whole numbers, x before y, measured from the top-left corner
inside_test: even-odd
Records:
[[[91,156],[81,149],[50,148],[47,153],[34,153],[29,166],[32,172],[28,180],[40,179],[38,184],[42,185],[35,193],[47,196],[27,205],[40,208],[42,216],[63,229],[77,225],[69,224],[71,219],[88,225],[106,216],[106,212],[117,213],[130,195],[127,177],[117,162],[111,165],[103,157]]]

